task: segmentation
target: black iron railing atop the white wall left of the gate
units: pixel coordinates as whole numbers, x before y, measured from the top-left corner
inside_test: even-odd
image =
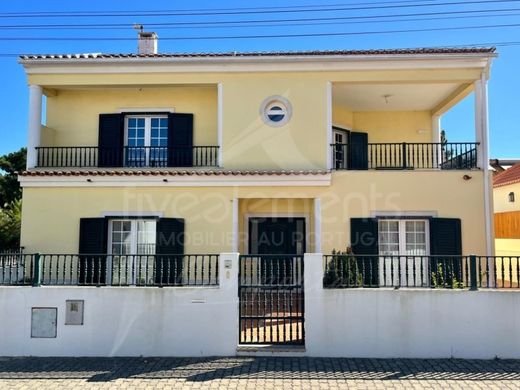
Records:
[[[0,285],[216,286],[213,254],[0,254]]]

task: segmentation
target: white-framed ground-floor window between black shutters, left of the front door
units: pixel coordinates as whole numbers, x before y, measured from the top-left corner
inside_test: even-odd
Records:
[[[136,277],[153,267],[155,219],[111,219],[108,224],[109,279],[113,284],[136,284]],[[150,256],[147,256],[150,255]],[[151,275],[151,273],[150,273]]]

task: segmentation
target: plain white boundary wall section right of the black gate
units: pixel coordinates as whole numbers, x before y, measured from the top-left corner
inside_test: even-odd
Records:
[[[520,291],[323,289],[305,258],[309,356],[520,358]]]

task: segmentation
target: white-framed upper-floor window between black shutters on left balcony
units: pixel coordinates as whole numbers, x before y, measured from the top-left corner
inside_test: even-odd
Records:
[[[127,166],[166,166],[168,116],[127,115],[125,117],[125,150]]]

